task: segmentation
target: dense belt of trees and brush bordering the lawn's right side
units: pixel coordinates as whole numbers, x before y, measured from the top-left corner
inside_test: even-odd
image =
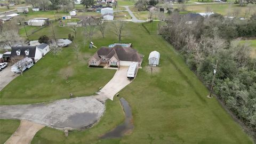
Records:
[[[214,93],[255,139],[256,58],[251,57],[248,44],[234,39],[256,37],[256,14],[244,21],[213,14],[188,24],[183,15],[173,12],[164,21],[159,34],[179,51],[207,87],[211,86],[218,60]]]

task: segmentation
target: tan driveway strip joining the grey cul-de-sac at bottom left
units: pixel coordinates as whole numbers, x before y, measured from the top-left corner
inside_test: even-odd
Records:
[[[26,120],[21,120],[20,126],[4,144],[29,144],[37,131],[44,126]]]

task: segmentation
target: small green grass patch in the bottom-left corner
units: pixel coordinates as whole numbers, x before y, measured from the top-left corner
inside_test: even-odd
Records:
[[[19,120],[0,119],[0,143],[4,143],[17,130],[20,125]]]

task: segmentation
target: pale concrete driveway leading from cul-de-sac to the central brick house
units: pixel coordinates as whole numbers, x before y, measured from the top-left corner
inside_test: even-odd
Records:
[[[114,77],[98,92],[98,97],[113,100],[116,93],[121,91],[132,81],[127,79],[127,70],[129,67],[120,67]],[[97,96],[96,96],[97,97]]]

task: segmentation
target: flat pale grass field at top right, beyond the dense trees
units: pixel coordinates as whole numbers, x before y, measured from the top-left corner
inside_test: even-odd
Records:
[[[249,7],[251,7],[250,13],[246,14],[246,18],[250,18],[253,13],[256,11],[255,4],[248,4],[248,6],[240,7],[238,4],[221,4],[221,5],[190,5],[186,7],[187,11],[190,12],[206,12],[206,7],[210,7],[212,12],[219,13],[222,15],[229,15],[233,17],[234,11],[239,10],[238,17],[244,17],[245,12],[249,11]],[[175,6],[174,6],[175,8]]]

